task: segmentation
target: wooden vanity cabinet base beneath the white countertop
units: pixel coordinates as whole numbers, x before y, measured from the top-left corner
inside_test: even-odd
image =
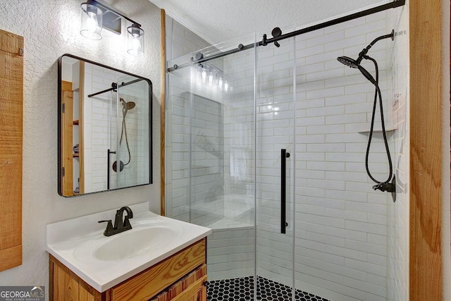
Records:
[[[206,238],[103,293],[49,256],[49,300],[206,301]]]

